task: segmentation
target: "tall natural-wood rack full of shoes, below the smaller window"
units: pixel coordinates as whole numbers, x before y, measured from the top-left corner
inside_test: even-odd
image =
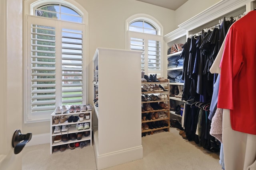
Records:
[[[142,136],[147,132],[170,131],[169,80],[163,78],[161,82],[141,82],[141,87]]]

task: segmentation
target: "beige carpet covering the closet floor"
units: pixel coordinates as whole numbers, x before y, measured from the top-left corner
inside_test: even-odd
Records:
[[[143,158],[106,170],[222,170],[218,153],[182,139],[176,128],[142,137]],[[50,144],[25,147],[22,170],[96,170],[94,147],[50,154]]]

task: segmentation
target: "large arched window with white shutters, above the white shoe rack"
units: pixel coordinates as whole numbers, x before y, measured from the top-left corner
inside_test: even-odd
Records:
[[[57,106],[88,101],[84,14],[63,0],[31,6],[25,29],[26,122],[49,120]]]

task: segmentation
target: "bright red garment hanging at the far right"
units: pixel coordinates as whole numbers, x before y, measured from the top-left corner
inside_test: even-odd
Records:
[[[218,108],[230,109],[232,129],[256,135],[256,11],[232,24],[220,63]]]

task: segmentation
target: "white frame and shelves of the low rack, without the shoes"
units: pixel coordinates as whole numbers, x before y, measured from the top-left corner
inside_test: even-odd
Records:
[[[84,117],[84,120],[83,121],[78,121],[77,122],[68,122],[67,120],[63,123],[58,123],[58,124],[55,124],[54,123],[54,117],[55,116],[71,116],[71,115],[74,115],[74,116],[79,116],[81,113],[90,113],[90,119],[86,119]],[[78,123],[90,123],[90,128],[89,129],[82,129],[82,130],[76,130],[76,124]],[[81,111],[81,112],[74,112],[74,113],[69,113],[69,112],[66,112],[66,113],[60,113],[60,114],[55,114],[55,113],[52,113],[51,114],[51,119],[50,119],[50,154],[52,154],[53,152],[53,147],[55,146],[60,146],[60,145],[67,145],[69,143],[77,143],[77,142],[82,142],[82,141],[88,141],[90,140],[90,143],[87,144],[87,146],[90,144],[90,146],[92,146],[92,111]],[[64,132],[60,132],[60,133],[53,133],[54,131],[54,128],[56,126],[62,126],[62,125],[70,125],[70,129],[68,129],[68,131],[64,131]],[[66,135],[66,134],[71,134],[71,133],[78,133],[78,132],[85,132],[85,131],[89,131],[89,136],[88,137],[85,137],[84,134],[82,135],[82,139],[81,140],[68,140],[68,141],[60,141],[58,143],[54,143],[54,138],[57,136],[57,135]],[[79,148],[80,149],[80,148]]]

